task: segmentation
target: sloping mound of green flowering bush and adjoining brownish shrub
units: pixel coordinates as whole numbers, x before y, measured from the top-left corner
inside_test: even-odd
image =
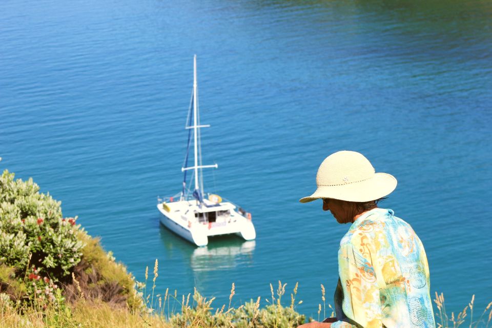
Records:
[[[20,306],[88,300],[136,309],[135,281],[99,240],[64,218],[60,202],[29,179],[0,175],[0,298]],[[79,292],[80,291],[80,292]],[[22,304],[20,304],[22,303]],[[34,304],[35,303],[35,304]]]

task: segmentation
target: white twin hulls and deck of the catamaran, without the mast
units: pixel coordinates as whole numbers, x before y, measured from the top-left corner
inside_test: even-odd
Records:
[[[198,208],[194,200],[165,203],[165,206],[166,208],[162,204],[157,205],[161,213],[160,222],[178,236],[197,246],[207,245],[210,236],[236,234],[244,240],[256,238],[255,227],[251,220],[234,211],[235,206],[231,203],[221,203],[220,206],[212,208],[218,211],[228,210],[227,218],[217,222],[199,222],[194,213],[202,209]]]

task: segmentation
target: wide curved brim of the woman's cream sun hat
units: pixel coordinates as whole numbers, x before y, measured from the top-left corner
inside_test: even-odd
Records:
[[[370,201],[391,194],[397,185],[396,178],[387,173],[375,173],[370,179],[346,183],[339,186],[319,186],[308,197],[299,199],[301,203],[307,203],[319,198],[332,198],[346,201]]]

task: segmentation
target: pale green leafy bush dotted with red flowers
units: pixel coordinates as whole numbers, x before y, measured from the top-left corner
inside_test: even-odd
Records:
[[[0,264],[28,279],[28,294],[54,298],[56,282],[70,279],[80,261],[83,243],[77,239],[76,218],[64,218],[60,202],[29,179],[0,176]]]

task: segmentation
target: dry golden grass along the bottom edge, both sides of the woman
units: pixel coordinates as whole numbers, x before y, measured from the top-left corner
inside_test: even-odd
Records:
[[[8,270],[4,270],[4,276],[8,275]],[[146,269],[146,281],[148,268]],[[207,299],[200,295],[196,289],[193,294],[179,295],[166,290],[165,294],[155,295],[156,281],[158,277],[158,262],[154,264],[154,277],[152,279],[152,291],[149,295],[145,285],[142,285],[144,294],[141,308],[138,311],[131,311],[124,306],[114,306],[114,303],[105,302],[100,298],[87,298],[84,289],[81,288],[78,279],[73,276],[74,300],[70,305],[66,305],[61,292],[58,293],[56,302],[42,303],[39,301],[31,302],[31,305],[21,305],[26,303],[12,304],[6,301],[0,294],[0,328],[11,327],[63,327],[63,328],[133,328],[133,327],[162,327],[162,328],[289,328],[297,327],[304,323],[305,317],[296,312],[296,306],[302,303],[296,300],[298,283],[295,284],[290,294],[288,306],[282,304],[282,297],[285,295],[286,284],[278,281],[278,286],[274,290],[270,284],[271,299],[264,300],[264,307],[261,308],[261,298],[256,301],[249,301],[239,305],[237,308],[232,306],[233,298],[236,293],[236,286],[233,283],[229,296],[229,305],[222,304],[214,308],[215,298]],[[6,294],[3,294],[6,295]],[[72,295],[72,296],[73,296]],[[436,293],[434,300],[437,306],[436,321],[438,328],[458,328],[468,326],[469,328],[487,328],[492,317],[492,302],[478,318],[474,317],[475,296],[471,298],[463,311],[455,315],[447,315],[444,296]],[[226,308],[227,306],[227,308]],[[333,308],[331,316],[335,315]],[[134,309],[135,310],[135,309]],[[318,304],[318,321],[322,320],[326,314],[326,297],[324,286],[321,285],[321,303]],[[321,316],[322,315],[322,316]],[[312,321],[309,318],[309,321]]]

